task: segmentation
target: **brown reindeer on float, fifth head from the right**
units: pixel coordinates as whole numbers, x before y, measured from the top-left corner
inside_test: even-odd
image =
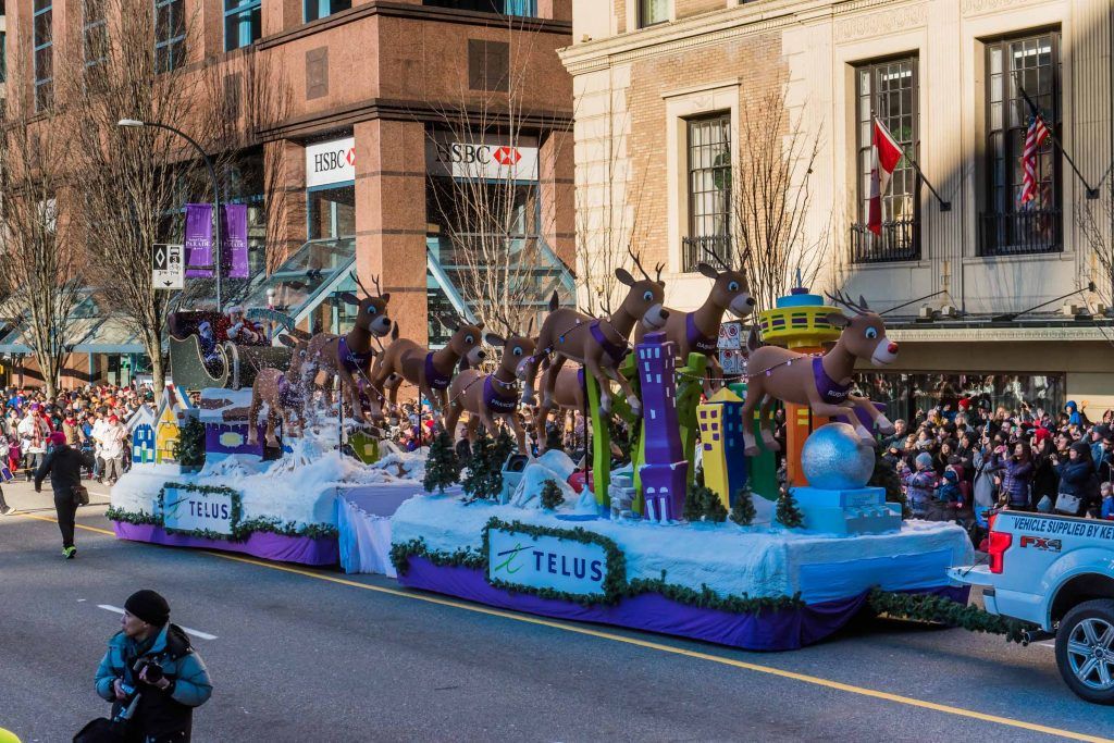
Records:
[[[444,322],[444,321],[442,321]],[[446,325],[452,327],[451,322]],[[478,366],[486,355],[481,344],[483,323],[463,323],[452,327],[452,338],[443,349],[430,351],[409,339],[400,339],[399,326],[391,331],[391,342],[383,349],[371,375],[373,390],[382,390],[390,398],[390,409],[398,407],[399,387],[403,380],[418,388],[438,413],[444,414],[452,374],[461,359],[469,366]],[[379,401],[382,402],[381,400]],[[382,405],[373,405],[373,418],[383,417]]]

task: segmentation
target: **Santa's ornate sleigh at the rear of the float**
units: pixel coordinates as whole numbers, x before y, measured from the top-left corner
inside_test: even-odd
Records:
[[[273,345],[217,343],[206,353],[199,326],[208,321],[216,326],[216,312],[176,312],[170,315],[170,377],[184,390],[250,388],[261,369],[290,368],[291,350]]]

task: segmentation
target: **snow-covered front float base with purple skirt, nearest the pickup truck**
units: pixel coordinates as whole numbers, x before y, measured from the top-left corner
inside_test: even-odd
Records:
[[[661,526],[613,521],[575,510],[566,507],[555,514],[488,502],[465,505],[449,497],[412,498],[391,518],[399,580],[412,588],[543,616],[745,649],[784,651],[838,630],[859,612],[874,587],[966,602],[966,589],[950,586],[946,570],[974,557],[964,530],[947,524],[908,521],[892,534],[836,537],[731,522]],[[512,525],[511,531],[518,532],[521,542],[511,539],[496,545],[494,539],[486,540],[489,525]],[[544,548],[531,551],[536,545],[529,544],[530,534],[547,534],[545,538],[570,545],[583,538],[569,534],[578,528],[617,550],[622,585],[613,581],[612,589],[617,593],[610,599],[539,590],[541,584],[524,588],[514,585],[517,576],[507,576],[508,581],[492,575],[488,550],[509,555],[525,544],[526,559],[537,556],[535,567],[545,573]],[[497,551],[508,544],[514,545],[510,550]],[[585,554],[583,545],[573,553]],[[571,557],[564,567],[559,558],[548,564],[556,568],[556,587],[560,588],[565,580],[560,574],[571,571]],[[529,570],[527,564],[519,576]]]

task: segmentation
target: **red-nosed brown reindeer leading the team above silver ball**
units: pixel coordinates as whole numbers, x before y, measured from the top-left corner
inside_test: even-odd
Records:
[[[746,401],[743,403],[743,420],[751,420],[753,410],[761,403],[759,428],[766,449],[778,451],[770,427],[770,410],[774,399],[809,405],[812,412],[829,418],[846,417],[857,426],[859,438],[873,444],[873,437],[854,416],[858,408],[866,412],[882,433],[892,433],[893,424],[868,398],[851,394],[851,374],[856,359],[869,361],[876,366],[893,363],[898,358],[898,344],[886,338],[886,323],[867,306],[867,301],[851,302],[842,293],[828,295],[833,302],[854,312],[848,317],[842,312],[832,312],[825,320],[842,327],[839,340],[823,355],[809,355],[789,351],[775,345],[764,345],[750,354],[746,365]],[[758,453],[754,434],[743,427],[746,444],[745,453]]]

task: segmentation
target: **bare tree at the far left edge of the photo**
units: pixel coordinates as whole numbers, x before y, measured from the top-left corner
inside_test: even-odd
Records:
[[[26,323],[47,395],[55,397],[80,300],[79,256],[67,244],[69,221],[59,214],[67,184],[66,144],[43,136],[14,111],[0,129],[0,295]]]

